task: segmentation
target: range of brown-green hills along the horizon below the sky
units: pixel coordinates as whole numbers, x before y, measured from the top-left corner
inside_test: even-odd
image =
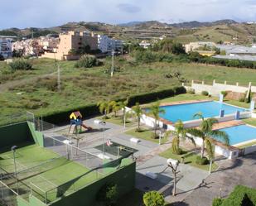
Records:
[[[49,33],[63,31],[95,31],[99,34],[117,37],[124,41],[142,41],[157,39],[160,36],[173,38],[181,43],[190,41],[231,41],[239,44],[256,42],[256,25],[220,20],[216,22],[183,22],[167,24],[157,21],[128,22],[120,25],[111,25],[102,22],[68,22],[61,26],[49,28],[10,28],[0,31],[0,35],[31,37],[45,36]],[[251,36],[251,37],[250,37]]]

